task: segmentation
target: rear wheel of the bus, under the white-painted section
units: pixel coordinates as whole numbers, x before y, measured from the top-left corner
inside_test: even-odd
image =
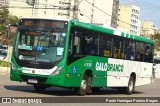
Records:
[[[135,79],[131,76],[128,82],[128,87],[126,88],[126,94],[131,95],[134,92]]]

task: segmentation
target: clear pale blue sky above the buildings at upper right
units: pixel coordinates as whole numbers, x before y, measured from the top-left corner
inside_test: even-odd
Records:
[[[133,4],[140,7],[140,20],[151,20],[160,28],[160,0],[119,0],[120,4]]]

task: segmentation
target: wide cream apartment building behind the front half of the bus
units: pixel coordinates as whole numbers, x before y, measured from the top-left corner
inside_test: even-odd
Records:
[[[28,5],[26,1],[32,2],[10,0],[10,13],[18,17],[74,18],[111,26],[113,5],[119,0],[33,0],[34,5]]]

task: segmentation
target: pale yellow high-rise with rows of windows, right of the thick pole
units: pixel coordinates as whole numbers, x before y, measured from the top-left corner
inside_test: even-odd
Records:
[[[140,35],[140,8],[134,5],[121,4],[119,6],[118,28],[127,30],[131,34]]]

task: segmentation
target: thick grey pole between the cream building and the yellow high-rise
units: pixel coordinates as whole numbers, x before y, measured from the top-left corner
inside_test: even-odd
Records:
[[[111,26],[117,28],[119,0],[113,0]]]

